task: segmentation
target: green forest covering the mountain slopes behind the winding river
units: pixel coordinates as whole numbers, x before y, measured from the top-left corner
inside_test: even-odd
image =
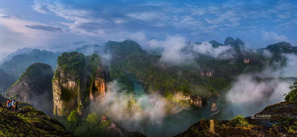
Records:
[[[236,39],[235,44],[239,45],[241,42],[240,39]],[[260,62],[244,63],[243,56],[235,60],[219,60],[206,55],[199,55],[199,58],[194,59],[195,63],[172,66],[160,61],[161,56],[142,50],[140,45],[132,40],[109,41],[105,46],[106,52],[110,51],[114,55],[110,62],[111,77],[118,79],[128,91],[132,91],[133,85],[124,72],[135,74],[143,81],[146,93],[157,92],[164,95],[168,102],[168,113],[174,112],[172,106],[189,106],[188,102],[176,98],[176,93],[199,96],[203,98],[203,103],[206,103],[207,98],[218,95],[217,89],[228,89],[230,81],[234,80],[236,75],[259,71],[263,66]],[[212,76],[203,77],[201,71],[214,73]]]

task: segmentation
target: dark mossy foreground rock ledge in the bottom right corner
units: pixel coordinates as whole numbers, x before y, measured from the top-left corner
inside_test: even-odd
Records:
[[[280,102],[267,106],[252,117],[245,118],[252,126],[250,129],[235,126],[234,121],[219,121],[214,118],[214,132],[211,132],[209,130],[210,120],[201,119],[175,137],[295,137],[297,136],[296,112],[297,102]]]

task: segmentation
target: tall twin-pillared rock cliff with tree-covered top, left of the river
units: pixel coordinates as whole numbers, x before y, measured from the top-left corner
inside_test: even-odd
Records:
[[[66,52],[58,57],[53,78],[54,115],[68,116],[75,110],[83,115],[95,100],[104,99],[109,78],[107,62],[93,54]],[[101,97],[101,98],[98,98]]]

